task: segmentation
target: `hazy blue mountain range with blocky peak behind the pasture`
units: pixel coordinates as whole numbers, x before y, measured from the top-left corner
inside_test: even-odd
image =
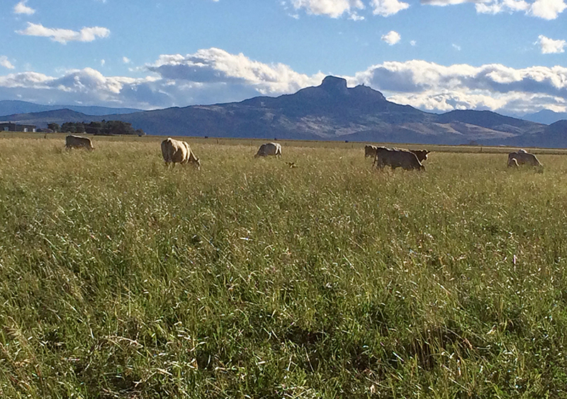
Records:
[[[454,110],[438,115],[386,100],[368,86],[347,88],[327,76],[320,86],[279,97],[240,103],[87,115],[72,109],[44,110],[0,120],[46,126],[47,122],[122,120],[147,134],[193,137],[350,140],[415,144],[567,146],[567,121],[551,125],[491,111]]]

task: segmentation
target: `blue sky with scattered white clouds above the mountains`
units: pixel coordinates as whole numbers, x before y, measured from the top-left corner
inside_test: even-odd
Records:
[[[434,112],[566,112],[566,1],[3,0],[0,100],[182,107],[332,74]]]

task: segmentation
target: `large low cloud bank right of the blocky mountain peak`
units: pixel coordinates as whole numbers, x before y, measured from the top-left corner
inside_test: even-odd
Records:
[[[427,110],[533,112],[537,104],[539,109],[565,107],[567,99],[566,67],[385,62],[356,74],[351,83],[364,83],[385,91],[390,100]]]

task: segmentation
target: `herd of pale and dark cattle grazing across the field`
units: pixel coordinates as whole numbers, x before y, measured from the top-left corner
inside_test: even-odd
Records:
[[[67,149],[84,148],[89,151],[94,150],[91,139],[88,137],[74,136],[72,134],[65,137],[65,147]],[[430,154],[430,152],[431,151],[427,150],[390,149],[373,145],[364,146],[364,156],[373,157],[374,163],[372,163],[372,166],[376,166],[376,168],[381,170],[386,166],[390,166],[392,169],[425,170],[423,161],[427,159],[427,154]],[[199,158],[195,156],[186,141],[174,140],[168,137],[162,141],[162,156],[164,157],[166,166],[174,166],[175,163],[181,163],[181,165],[191,163],[191,165],[195,166],[197,169],[201,168]],[[256,155],[254,155],[254,158],[259,156],[281,156],[281,144],[262,144]],[[286,162],[286,164],[290,168],[296,167],[296,164],[293,162]],[[520,165],[542,166],[534,154],[529,154],[523,149],[508,154],[507,166],[509,168],[517,168]]]

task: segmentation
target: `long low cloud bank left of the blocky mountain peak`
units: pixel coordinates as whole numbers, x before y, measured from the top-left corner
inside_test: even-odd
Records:
[[[164,54],[143,69],[150,74],[142,79],[104,76],[91,68],[65,71],[59,77],[33,72],[0,76],[0,98],[167,108],[294,93],[317,86],[325,77],[322,73],[299,74],[284,64],[263,64],[215,48],[187,55]]]

